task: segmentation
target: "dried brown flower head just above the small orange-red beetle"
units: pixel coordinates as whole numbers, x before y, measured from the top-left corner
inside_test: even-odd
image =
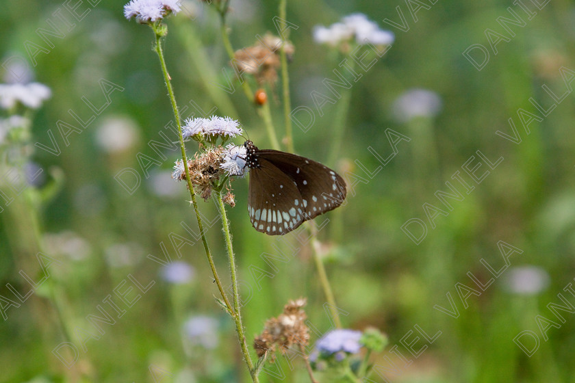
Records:
[[[274,83],[277,81],[277,68],[281,64],[279,49],[282,45],[286,55],[291,58],[294,54],[291,42],[284,42],[277,36],[266,34],[253,47],[235,51],[231,66],[238,75],[242,73],[253,75],[258,83]]]

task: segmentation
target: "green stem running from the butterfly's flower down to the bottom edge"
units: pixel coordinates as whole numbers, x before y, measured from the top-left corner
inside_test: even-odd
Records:
[[[218,210],[220,211],[220,218],[222,219],[222,226],[224,231],[224,236],[226,240],[226,249],[229,259],[229,274],[231,276],[231,288],[233,291],[233,310],[235,315],[233,319],[235,320],[235,330],[238,332],[238,339],[240,340],[240,346],[242,347],[242,353],[244,354],[244,360],[250,371],[251,378],[253,382],[259,382],[257,375],[255,374],[255,369],[253,368],[253,362],[251,360],[250,353],[248,351],[248,345],[246,343],[246,335],[244,334],[244,326],[242,324],[242,315],[240,313],[240,293],[238,293],[238,278],[235,276],[235,256],[233,254],[233,247],[231,244],[231,235],[229,233],[229,223],[227,220],[226,208],[224,201],[222,200],[222,194],[216,193],[216,198],[218,200]]]

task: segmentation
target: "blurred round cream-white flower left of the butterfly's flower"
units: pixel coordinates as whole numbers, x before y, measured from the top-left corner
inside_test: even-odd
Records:
[[[138,141],[138,127],[124,117],[105,119],[96,131],[96,142],[108,153],[118,153],[131,148]]]

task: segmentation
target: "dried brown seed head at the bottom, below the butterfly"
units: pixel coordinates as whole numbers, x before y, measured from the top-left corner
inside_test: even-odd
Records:
[[[266,321],[264,331],[256,336],[253,343],[257,356],[264,356],[268,350],[275,352],[278,347],[285,354],[292,345],[305,346],[309,343],[309,328],[305,326],[307,315],[303,311],[306,303],[305,298],[290,300],[283,307],[283,313]]]

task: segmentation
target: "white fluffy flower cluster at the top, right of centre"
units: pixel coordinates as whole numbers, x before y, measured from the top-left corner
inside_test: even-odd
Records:
[[[334,47],[351,38],[355,38],[357,44],[374,45],[391,45],[395,40],[391,31],[379,29],[376,23],[361,13],[345,16],[342,21],[329,27],[316,25],[313,34],[318,44],[329,44]]]

